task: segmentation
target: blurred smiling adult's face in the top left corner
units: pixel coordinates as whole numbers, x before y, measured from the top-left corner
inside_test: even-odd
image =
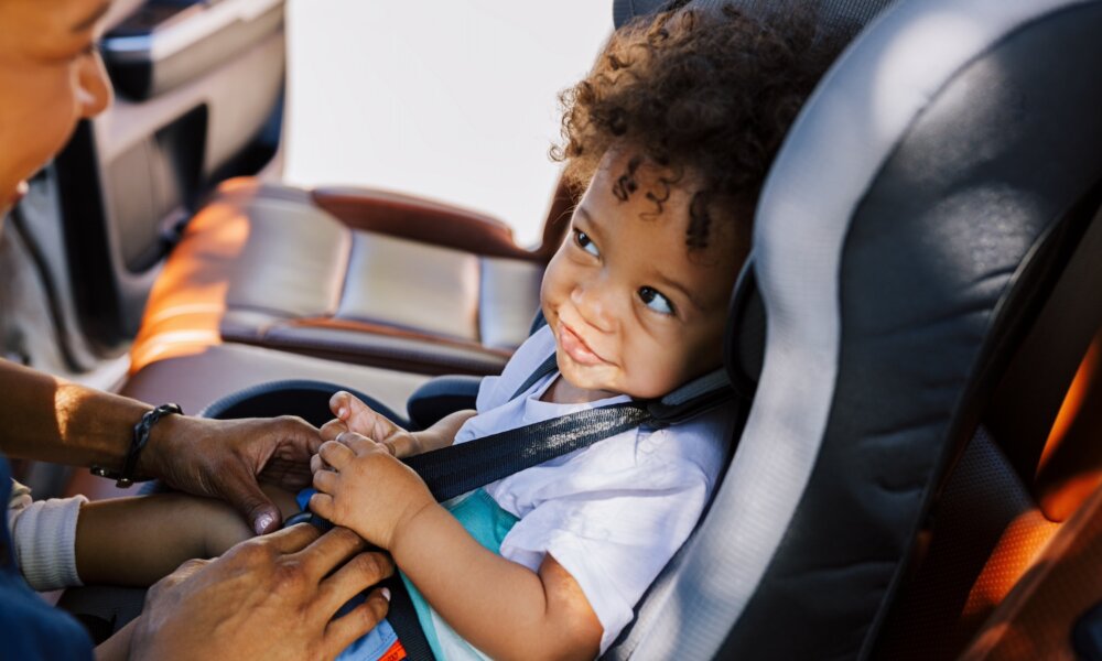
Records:
[[[0,216],[111,101],[95,50],[110,0],[0,0]]]

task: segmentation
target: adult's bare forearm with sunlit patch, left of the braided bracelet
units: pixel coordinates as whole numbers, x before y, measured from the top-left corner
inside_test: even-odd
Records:
[[[7,360],[0,360],[0,449],[13,457],[121,466],[131,430],[150,409]]]

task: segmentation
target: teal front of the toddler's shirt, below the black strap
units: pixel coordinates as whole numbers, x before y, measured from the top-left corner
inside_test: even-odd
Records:
[[[484,489],[476,489],[469,494],[464,494],[443,503],[452,512],[463,528],[471,533],[471,537],[489,549],[494,553],[501,552],[501,541],[509,534],[512,527],[519,521],[516,517],[498,507],[497,501],[490,498]],[[429,606],[424,597],[413,586],[413,583],[401,575],[406,587],[413,599],[413,608],[417,610],[418,621],[424,630],[424,637],[432,648],[433,655],[444,661],[458,661],[460,659],[486,659],[478,650],[463,640],[451,627],[440,618]]]

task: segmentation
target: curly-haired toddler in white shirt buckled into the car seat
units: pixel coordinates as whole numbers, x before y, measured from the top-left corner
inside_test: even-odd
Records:
[[[720,367],[766,172],[832,59],[815,25],[799,12],[674,8],[617,30],[562,95],[552,156],[584,194],[543,278],[547,325],[483,380],[477,411],[429,430],[334,395],[310,507],[391,553],[437,658],[596,657],[695,525],[726,457],[723,409],[611,436],[443,505],[396,457],[660,398]],[[551,355],[558,369],[514,397]],[[228,508],[208,509],[197,530],[181,519],[171,531],[204,540],[162,556],[164,572],[249,535]],[[383,622],[342,658],[401,657]]]

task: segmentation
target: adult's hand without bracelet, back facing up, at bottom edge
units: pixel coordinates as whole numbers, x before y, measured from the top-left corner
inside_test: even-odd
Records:
[[[387,596],[376,588],[333,619],[348,599],[393,573],[386,555],[364,546],[350,530],[318,537],[300,524],[213,561],[190,561],[150,588],[130,658],[332,659],[387,611]]]

